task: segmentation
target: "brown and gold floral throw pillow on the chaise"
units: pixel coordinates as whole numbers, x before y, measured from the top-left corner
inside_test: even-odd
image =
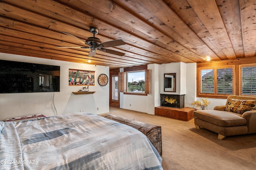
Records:
[[[255,108],[255,100],[228,99],[228,104],[225,108],[225,111],[230,111],[242,115],[246,111],[255,110]]]

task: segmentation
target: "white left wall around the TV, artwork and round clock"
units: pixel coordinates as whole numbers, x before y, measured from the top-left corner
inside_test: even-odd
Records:
[[[0,94],[0,120],[32,114],[52,116],[53,97],[58,115],[80,112],[81,109],[95,114],[109,112],[109,83],[100,86],[97,81],[102,73],[109,77],[109,67],[6,53],[0,53],[0,59],[60,66],[60,92]],[[95,93],[74,95],[72,91],[78,91],[83,86],[68,86],[69,68],[95,71],[95,86],[89,86],[89,90]]]

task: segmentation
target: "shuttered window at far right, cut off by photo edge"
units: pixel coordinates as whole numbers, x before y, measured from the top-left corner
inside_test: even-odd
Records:
[[[241,88],[242,95],[256,95],[256,64],[250,66],[242,65],[241,70]]]

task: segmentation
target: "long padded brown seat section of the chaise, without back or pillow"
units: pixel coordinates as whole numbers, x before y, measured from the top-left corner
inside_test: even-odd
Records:
[[[228,111],[197,110],[194,111],[194,123],[197,129],[208,129],[218,133],[218,139],[224,139],[226,136],[248,133],[246,119],[241,116]]]

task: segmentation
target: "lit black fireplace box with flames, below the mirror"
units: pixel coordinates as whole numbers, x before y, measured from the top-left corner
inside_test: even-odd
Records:
[[[160,94],[161,106],[183,108],[184,102],[185,102],[184,96],[185,94],[182,94],[182,95]]]

